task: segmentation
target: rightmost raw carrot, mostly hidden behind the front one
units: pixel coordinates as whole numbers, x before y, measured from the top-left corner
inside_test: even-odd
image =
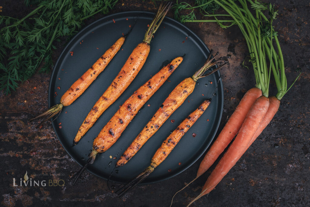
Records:
[[[256,130],[255,134],[252,137],[252,140],[250,141],[248,147],[246,150],[250,147],[250,145],[255,141],[255,139],[259,136],[259,134],[262,133],[262,131],[266,128],[266,126],[269,124],[269,122],[272,120],[274,115],[277,113],[279,107],[280,107],[280,100],[277,99],[275,96],[268,97],[269,99],[269,108],[266,112],[262,122],[260,122],[258,129]]]

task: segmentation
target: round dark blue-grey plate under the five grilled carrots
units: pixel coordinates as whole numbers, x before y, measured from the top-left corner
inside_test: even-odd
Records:
[[[59,56],[51,75],[49,107],[60,103],[60,98],[64,92],[95,63],[108,47],[122,36],[122,33],[127,33],[130,30],[129,25],[133,23],[133,20],[138,15],[140,15],[139,19],[122,46],[123,50],[121,49],[115,55],[105,70],[76,101],[70,106],[63,108],[59,117],[52,123],[55,133],[64,149],[79,165],[84,165],[87,155],[92,149],[93,139],[117,111],[119,105],[124,103],[135,90],[144,84],[152,75],[157,73],[163,65],[169,63],[170,59],[186,53],[183,62],[168,78],[169,81],[166,81],[148,102],[145,103],[144,107],[141,108],[140,112],[131,121],[117,142],[105,153],[98,155],[94,164],[88,167],[88,170],[92,174],[105,179],[112,172],[120,155],[147,124],[169,93],[184,78],[191,77],[203,65],[209,54],[209,49],[197,35],[183,24],[166,17],[154,35],[155,37],[150,44],[151,51],[135,80],[117,101],[102,114],[80,142],[72,147],[73,139],[82,121],[116,77],[126,62],[126,59],[131,54],[131,51],[138,43],[142,42],[147,25],[152,21],[153,13],[142,13],[138,11],[122,12],[97,20],[73,37]],[[159,49],[161,50],[159,51]],[[70,55],[70,51],[73,51],[73,55]],[[217,72],[209,77],[199,79],[199,84],[197,83],[194,92],[188,99],[126,165],[117,169],[119,170],[118,174],[113,173],[111,180],[120,183],[128,181],[148,167],[152,156],[157,148],[160,147],[162,141],[169,136],[170,131],[174,130],[203,100],[211,97],[216,88],[219,76],[220,73]],[[213,84],[210,84],[209,81],[212,81]],[[60,89],[57,88],[58,86],[60,86]],[[58,94],[57,96],[55,96],[55,92]],[[148,104],[150,104],[149,107]],[[220,81],[216,96],[212,99],[206,112],[204,112],[183,136],[167,159],[145,179],[144,183],[154,183],[171,178],[197,161],[209,147],[215,136],[222,115],[222,109],[223,85],[222,81]],[[175,120],[175,122],[172,123],[170,121],[171,119]],[[60,122],[61,129],[59,128]],[[192,136],[193,133],[197,134],[195,138]],[[117,159],[110,159],[110,156],[117,156]]]

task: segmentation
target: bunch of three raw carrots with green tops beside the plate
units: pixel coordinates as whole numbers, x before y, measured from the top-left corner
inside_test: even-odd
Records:
[[[271,4],[266,6],[257,1],[252,2],[251,0],[247,0],[247,2],[251,4],[251,7],[255,8],[255,16],[253,16],[246,1],[239,1],[241,3],[241,8],[233,1],[215,0],[214,2],[228,12],[229,16],[231,16],[233,21],[239,26],[245,37],[250,52],[250,61],[253,64],[256,87],[246,92],[223,130],[201,161],[194,180],[200,177],[213,165],[219,155],[224,152],[224,149],[235,137],[235,140],[231,143],[224,156],[210,174],[201,193],[193,199],[189,205],[201,196],[212,191],[228,171],[237,163],[249,146],[272,120],[279,109],[280,100],[291,87],[287,88],[284,59],[276,32],[272,27],[272,20],[277,14],[274,6]],[[263,14],[263,10],[269,11],[269,19]],[[227,21],[231,22],[232,20]],[[261,28],[264,30],[267,28],[269,31],[263,31]],[[273,39],[276,43],[277,51],[273,46]],[[273,73],[278,92],[275,96],[269,97],[271,72]],[[188,183],[188,185],[190,183]]]

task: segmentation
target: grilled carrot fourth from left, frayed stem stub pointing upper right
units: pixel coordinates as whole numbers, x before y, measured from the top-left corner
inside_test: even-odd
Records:
[[[221,58],[217,61],[212,62],[213,59],[218,55],[215,55],[214,58],[211,58],[212,50],[210,51],[209,57],[206,60],[206,63],[202,68],[200,68],[193,77],[185,78],[182,82],[179,83],[175,87],[175,89],[170,93],[168,98],[162,103],[161,107],[154,114],[152,119],[148,122],[148,124],[144,127],[144,129],[138,134],[135,140],[131,143],[131,145],[126,149],[120,159],[117,161],[115,167],[125,165],[131,157],[133,157],[139,149],[148,141],[153,134],[157,132],[157,130],[162,126],[162,124],[170,117],[170,115],[177,109],[185,99],[193,92],[196,81],[201,77],[206,77],[203,73],[208,70],[213,65],[219,63]],[[223,65],[222,65],[223,66]],[[221,66],[221,67],[222,67]],[[219,68],[217,68],[219,69]],[[213,70],[211,73],[214,73],[216,70]],[[207,74],[207,75],[210,75]]]

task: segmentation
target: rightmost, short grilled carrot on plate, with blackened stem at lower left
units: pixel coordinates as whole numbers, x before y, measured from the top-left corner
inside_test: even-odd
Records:
[[[197,121],[201,114],[208,108],[210,100],[205,100],[201,105],[192,112],[182,123],[170,134],[170,136],[162,143],[162,146],[157,149],[154,154],[150,166],[148,166],[141,174],[136,178],[128,182],[126,185],[117,190],[119,196],[122,196],[125,192],[135,187],[141,181],[143,181],[154,169],[166,159],[166,157],[173,150],[175,145],[180,141],[183,135],[189,130],[191,126]]]

